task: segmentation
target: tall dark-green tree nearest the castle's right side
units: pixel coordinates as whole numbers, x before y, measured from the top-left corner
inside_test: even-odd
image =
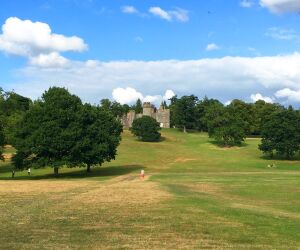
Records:
[[[174,96],[171,98],[171,119],[172,125],[183,129],[196,129],[197,125],[197,113],[196,113],[196,103],[198,97],[194,95],[182,96],[177,98]]]

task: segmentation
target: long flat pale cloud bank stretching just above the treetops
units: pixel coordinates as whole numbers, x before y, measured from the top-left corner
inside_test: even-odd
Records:
[[[207,95],[225,102],[248,100],[253,93],[272,96],[284,88],[300,90],[299,68],[299,53],[186,61],[69,61],[66,67],[27,66],[15,71],[19,78],[10,86],[31,98],[49,86],[64,86],[95,103],[111,96],[113,89],[128,86],[152,96],[170,89],[179,96]]]

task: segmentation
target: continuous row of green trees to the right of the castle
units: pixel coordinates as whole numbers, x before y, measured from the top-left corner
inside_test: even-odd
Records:
[[[277,103],[233,100],[224,105],[194,95],[171,98],[171,126],[207,132],[224,146],[241,145],[248,136],[262,138],[259,149],[266,155],[292,158],[300,151],[300,112]]]

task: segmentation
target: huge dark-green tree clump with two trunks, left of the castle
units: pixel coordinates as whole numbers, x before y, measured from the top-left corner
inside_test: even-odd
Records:
[[[25,113],[15,133],[17,168],[87,166],[113,159],[122,127],[108,112],[82,105],[64,88],[46,91]],[[97,155],[98,154],[98,155]],[[95,159],[89,159],[95,157]]]

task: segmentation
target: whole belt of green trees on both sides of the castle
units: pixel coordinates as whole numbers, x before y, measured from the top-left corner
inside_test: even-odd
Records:
[[[183,132],[207,132],[224,146],[241,145],[246,137],[261,137],[259,149],[268,156],[292,158],[300,151],[300,112],[291,106],[259,100],[216,99],[194,95],[170,99],[171,126]],[[52,87],[36,101],[0,88],[0,157],[5,144],[17,153],[17,169],[51,166],[54,173],[67,167],[86,167],[115,158],[121,141],[120,119],[130,109],[142,113],[142,102],[131,107],[108,99],[99,105],[84,104],[64,88]],[[132,133],[143,141],[160,140],[159,124],[143,118]]]

